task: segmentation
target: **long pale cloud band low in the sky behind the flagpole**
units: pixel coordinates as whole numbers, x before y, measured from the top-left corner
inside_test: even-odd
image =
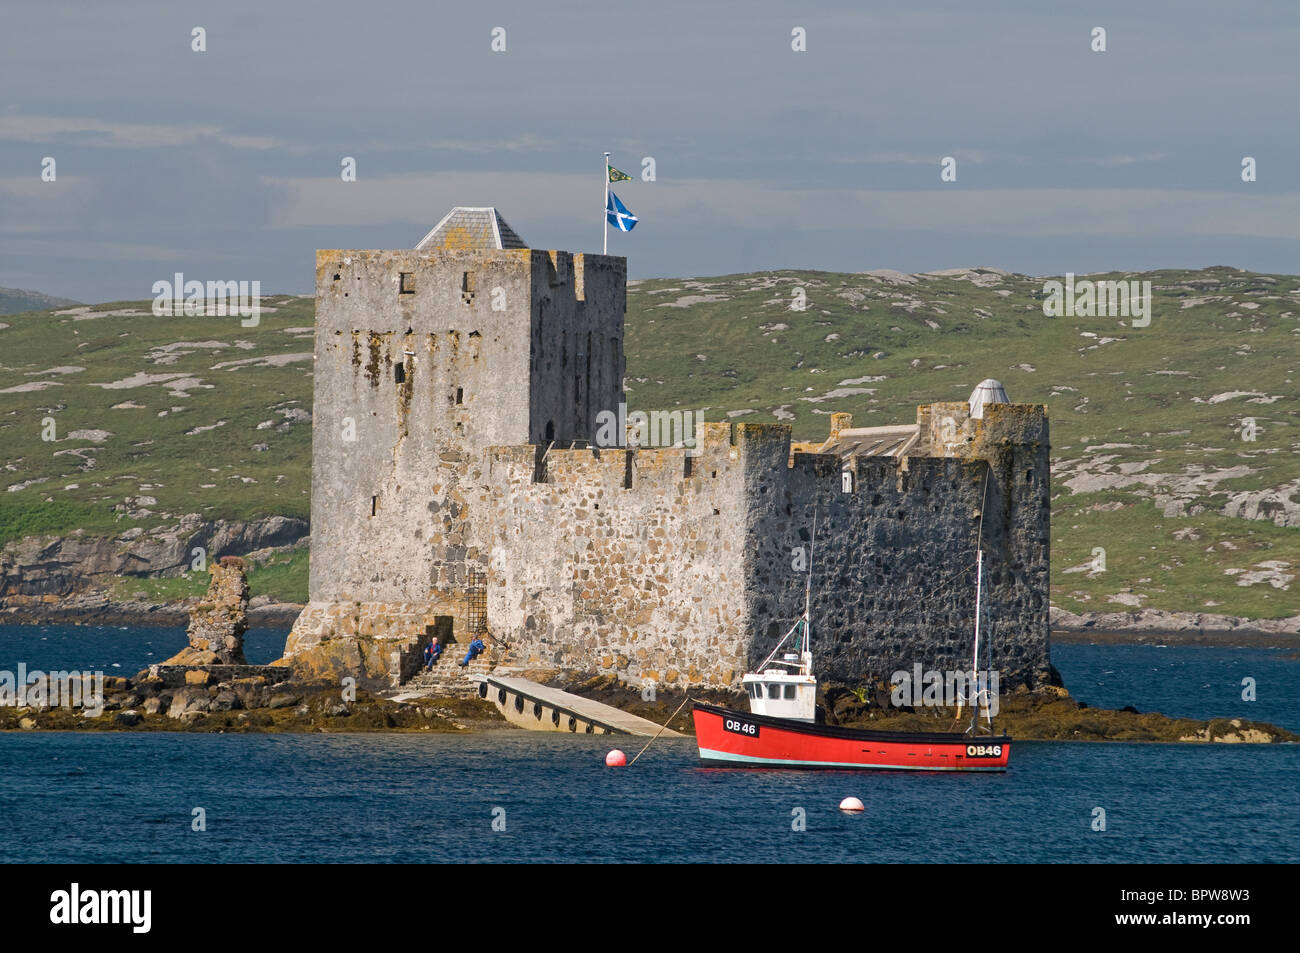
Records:
[[[278,194],[276,228],[428,226],[452,205],[497,205],[519,222],[590,221],[597,176],[424,173],[368,182],[266,179]],[[628,183],[620,198],[658,224],[768,231],[936,231],[970,235],[1186,235],[1300,239],[1300,192],[1248,195],[1175,189],[780,189],[762,181]],[[597,213],[598,215],[598,213]],[[419,238],[412,238],[412,243]],[[528,234],[524,234],[525,241]]]

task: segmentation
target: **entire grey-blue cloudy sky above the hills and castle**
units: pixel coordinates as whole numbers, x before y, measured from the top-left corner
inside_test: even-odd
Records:
[[[1294,273],[1297,51],[1280,0],[10,0],[0,286],[306,294],[452,205],[599,252],[604,151],[633,278]]]

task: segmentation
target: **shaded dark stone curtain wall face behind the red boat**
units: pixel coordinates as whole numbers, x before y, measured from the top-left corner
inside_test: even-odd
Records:
[[[1048,631],[1048,432],[1043,407],[1001,404],[965,420],[961,455],[862,458],[844,491],[838,462],[796,454],[783,481],[754,486],[749,550],[760,662],[802,610],[790,551],[818,512],[814,659],[818,675],[888,681],[894,671],[970,668],[975,553],[983,507],[984,621],[1002,686],[1050,680]],[[922,415],[923,433],[926,415]],[[950,428],[949,428],[950,433]],[[928,452],[932,445],[926,445]],[[784,486],[783,486],[784,482]],[[984,486],[988,484],[985,497]],[[775,497],[772,494],[776,494]],[[982,666],[984,651],[980,653]]]

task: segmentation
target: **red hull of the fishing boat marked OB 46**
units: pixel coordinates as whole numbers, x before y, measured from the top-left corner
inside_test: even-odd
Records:
[[[720,767],[1006,771],[1011,738],[885,732],[754,715],[697,702],[699,761]]]

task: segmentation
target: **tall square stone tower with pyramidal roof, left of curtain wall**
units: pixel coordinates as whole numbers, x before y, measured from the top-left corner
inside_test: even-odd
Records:
[[[582,446],[623,399],[627,261],[454,208],[411,250],[316,252],[309,605],[285,654],[384,679],[488,568],[486,450]]]

